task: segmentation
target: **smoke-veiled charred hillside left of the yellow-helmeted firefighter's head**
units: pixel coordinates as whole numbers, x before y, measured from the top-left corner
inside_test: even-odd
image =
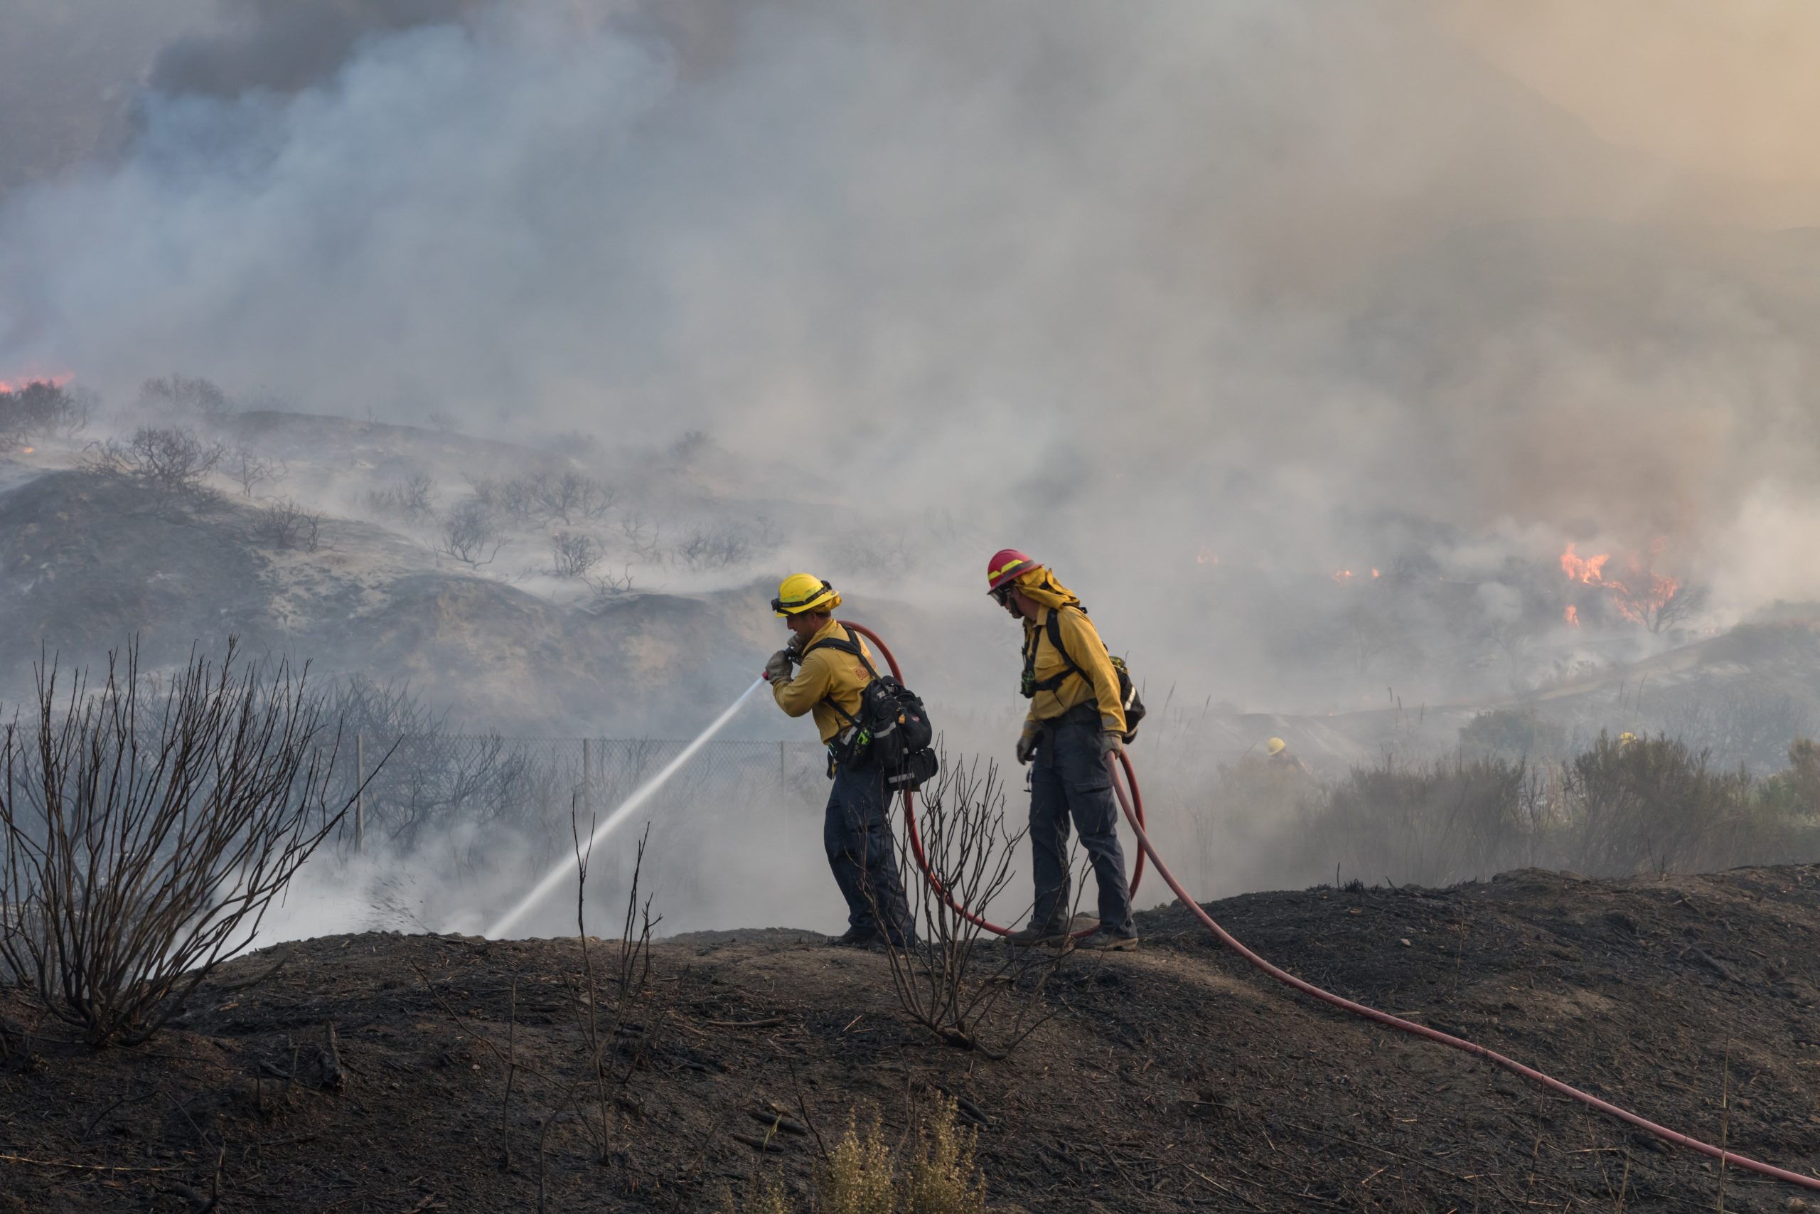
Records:
[[[763,590],[573,606],[366,521],[311,511],[308,539],[275,535],[271,510],[87,471],[0,493],[0,619],[31,639],[7,653],[5,699],[24,699],[40,641],[69,664],[136,635],[162,666],[238,635],[322,675],[410,681],[493,728],[648,733],[690,695],[732,695],[721,683],[770,641]]]

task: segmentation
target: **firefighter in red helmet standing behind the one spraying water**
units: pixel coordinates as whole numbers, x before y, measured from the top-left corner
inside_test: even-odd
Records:
[[[1099,926],[1081,948],[1132,948],[1138,925],[1125,883],[1119,810],[1107,757],[1125,737],[1119,675],[1087,610],[1046,566],[1006,548],[986,564],[992,597],[1023,621],[1023,693],[1030,713],[1017,761],[1030,770],[1030,859],[1036,905],[1014,945],[1068,939],[1068,821],[1094,865]],[[1059,644],[1057,644],[1059,642]]]

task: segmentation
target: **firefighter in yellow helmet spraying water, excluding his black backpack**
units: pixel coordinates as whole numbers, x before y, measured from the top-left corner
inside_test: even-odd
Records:
[[[792,717],[812,713],[828,746],[834,788],[821,841],[846,899],[846,936],[835,943],[864,946],[890,939],[905,945],[914,928],[892,845],[885,772],[877,759],[850,763],[859,695],[872,683],[872,650],[834,619],[837,606],[841,595],[823,579],[812,573],[786,577],[772,610],[790,630],[790,642],[772,653],[764,677],[777,706]]]

